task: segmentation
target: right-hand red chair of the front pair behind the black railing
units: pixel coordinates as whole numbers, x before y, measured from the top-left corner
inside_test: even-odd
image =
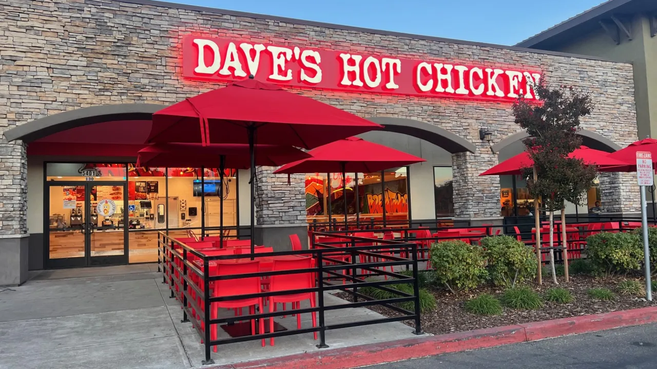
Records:
[[[293,271],[295,269],[309,269],[312,267],[311,257],[300,257],[298,259],[274,259],[273,271]],[[296,274],[279,274],[271,276],[271,292],[301,290],[303,288],[313,288],[315,276],[314,273],[296,273]],[[277,303],[292,303],[292,309],[301,309],[301,301],[309,300],[310,307],[315,307],[315,292],[291,293],[290,295],[269,296],[269,307],[276,311]],[[313,327],[317,326],[317,316],[312,314]],[[262,322],[262,320],[261,320]],[[301,329],[301,315],[296,315],[296,326]],[[269,332],[274,331],[274,318],[269,318]],[[314,332],[317,339],[317,332]],[[274,337],[269,339],[269,344],[274,345]],[[263,340],[263,346],[265,345]]]

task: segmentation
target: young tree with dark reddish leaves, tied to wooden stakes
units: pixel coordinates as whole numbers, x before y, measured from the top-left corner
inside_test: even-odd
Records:
[[[597,176],[595,166],[585,165],[582,160],[569,156],[581,146],[581,138],[577,135],[579,118],[591,114],[593,104],[588,94],[572,87],[550,89],[544,83],[533,87],[542,103],[535,104],[521,96],[513,105],[513,113],[516,123],[530,135],[522,142],[534,165],[524,168],[523,175],[528,179],[530,194],[534,198],[542,198],[544,210],[550,214],[550,265],[553,282],[557,284],[553,212],[561,210],[562,228],[565,228],[564,203],[569,201],[579,204],[583,192],[593,185]],[[533,177],[534,170],[537,179]],[[538,229],[536,242],[538,252],[541,244]],[[563,250],[566,250],[565,242],[564,239]],[[564,255],[564,263],[567,265],[567,251],[564,251]],[[540,262],[539,258],[539,269]]]

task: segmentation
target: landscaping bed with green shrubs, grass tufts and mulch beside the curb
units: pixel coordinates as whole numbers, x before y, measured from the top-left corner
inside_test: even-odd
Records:
[[[451,240],[434,244],[433,268],[419,275],[422,330],[447,334],[654,306],[645,300],[643,244],[635,233],[600,232],[587,238],[587,259],[570,263],[570,282],[565,282],[564,265],[556,265],[558,285],[548,266],[543,266],[543,284],[535,284],[532,248],[509,236],[483,238],[482,246]],[[649,241],[656,265],[657,229],[650,230]],[[412,293],[410,284],[390,288]],[[359,292],[377,300],[399,297],[371,287]],[[344,292],[338,297],[352,298]],[[413,303],[403,304],[413,309]],[[400,316],[380,305],[370,309]]]

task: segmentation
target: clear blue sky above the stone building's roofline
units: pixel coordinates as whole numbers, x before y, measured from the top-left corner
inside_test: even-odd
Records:
[[[602,0],[168,1],[501,45],[514,45],[602,3]]]

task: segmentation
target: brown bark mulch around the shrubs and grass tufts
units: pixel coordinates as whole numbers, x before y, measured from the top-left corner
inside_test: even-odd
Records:
[[[655,301],[645,301],[645,297],[623,296],[618,293],[616,284],[622,278],[594,278],[591,276],[570,276],[570,282],[564,283],[563,277],[559,278],[559,285],[553,284],[551,278],[543,279],[543,285],[530,285],[539,294],[548,288],[560,287],[570,290],[574,297],[571,303],[557,304],[544,301],[541,309],[516,310],[503,307],[503,313],[497,316],[480,316],[467,313],[463,308],[464,301],[477,297],[484,293],[499,297],[503,293],[502,288],[493,286],[482,286],[467,293],[453,295],[442,288],[426,288],[436,297],[436,309],[430,313],[422,314],[422,330],[430,334],[447,334],[482,328],[493,328],[507,326],[510,324],[522,324],[551,320],[557,318],[568,318],[572,316],[609,313],[627,309],[639,309],[641,307],[655,306]],[[600,301],[589,297],[587,290],[590,288],[608,288],[616,293],[614,301]],[[336,293],[336,296],[351,301],[348,293]],[[369,309],[384,316],[399,316],[399,313],[386,307],[374,306]],[[413,321],[405,321],[409,326],[414,326]]]

